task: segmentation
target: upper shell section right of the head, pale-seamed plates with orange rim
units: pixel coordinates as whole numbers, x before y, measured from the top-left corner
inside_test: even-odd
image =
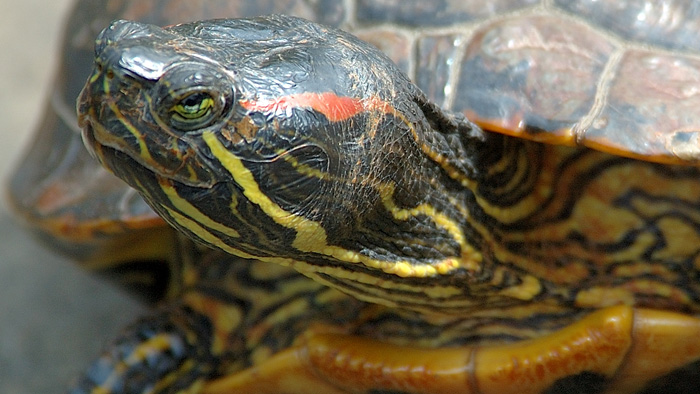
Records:
[[[693,2],[360,3],[357,24],[378,26],[360,37],[391,53],[432,100],[485,130],[698,163]],[[397,24],[418,32],[402,36]]]

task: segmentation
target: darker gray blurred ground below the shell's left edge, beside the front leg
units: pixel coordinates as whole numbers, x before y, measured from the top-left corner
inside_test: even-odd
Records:
[[[0,215],[0,393],[61,393],[142,311]]]

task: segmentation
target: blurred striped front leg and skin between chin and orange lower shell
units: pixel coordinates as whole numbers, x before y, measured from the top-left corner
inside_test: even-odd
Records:
[[[541,335],[531,326],[544,317],[530,312],[521,313],[530,314],[522,321],[515,316],[430,321],[361,302],[287,267],[180,242],[178,264],[185,282],[177,290],[182,296],[128,327],[72,392],[197,392],[206,380],[264,364],[309,332],[423,348],[502,344]],[[549,316],[546,325],[560,327],[572,317],[562,313],[557,324]],[[217,384],[238,389],[228,387],[225,378]]]

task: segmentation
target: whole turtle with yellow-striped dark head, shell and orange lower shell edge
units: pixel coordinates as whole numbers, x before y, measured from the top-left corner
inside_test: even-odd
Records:
[[[15,206],[166,301],[73,390],[697,389],[698,10],[524,3],[102,30],[80,127],[134,189],[74,133],[28,156]],[[208,19],[249,13],[276,15]]]

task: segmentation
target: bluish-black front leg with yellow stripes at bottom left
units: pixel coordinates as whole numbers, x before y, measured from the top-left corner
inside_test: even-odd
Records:
[[[209,319],[188,305],[159,310],[126,330],[70,393],[196,393],[216,370]]]

